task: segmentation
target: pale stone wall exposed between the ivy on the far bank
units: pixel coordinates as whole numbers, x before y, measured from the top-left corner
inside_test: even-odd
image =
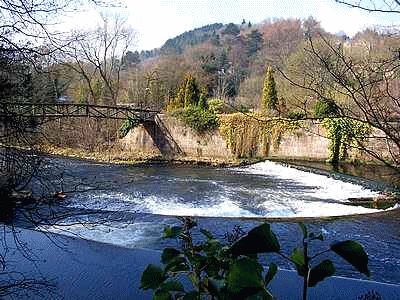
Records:
[[[179,120],[166,115],[158,115],[155,123],[131,130],[119,143],[124,151],[157,153],[165,158],[234,159],[218,130],[198,134]],[[326,160],[329,154],[328,145],[329,140],[325,138],[322,126],[309,122],[305,128],[282,136],[278,147],[271,145],[267,157]],[[388,152],[383,141],[370,139],[369,145],[381,153]],[[256,151],[258,157],[265,156],[262,148],[260,145]],[[352,151],[351,157],[371,160],[370,156],[360,151]]]

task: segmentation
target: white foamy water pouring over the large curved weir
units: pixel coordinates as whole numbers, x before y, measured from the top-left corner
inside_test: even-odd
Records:
[[[169,183],[170,180],[167,178],[170,193],[157,192],[154,189],[135,190],[131,193],[98,192],[72,199],[69,206],[167,216],[233,218],[326,217],[379,211],[345,204],[348,198],[375,197],[379,195],[378,192],[325,175],[269,161],[235,168],[232,171],[245,176],[262,175],[265,176],[265,182],[271,181],[272,178],[274,184],[263,186],[261,180],[257,188],[248,188],[245,184],[232,185],[221,180],[218,182],[211,180],[210,191],[205,193],[206,191],[196,189],[198,178],[190,182],[190,177],[187,177],[184,184],[193,189],[190,193],[180,195],[175,190],[176,183]],[[230,176],[235,176],[235,173]],[[288,189],[288,186],[291,188]]]

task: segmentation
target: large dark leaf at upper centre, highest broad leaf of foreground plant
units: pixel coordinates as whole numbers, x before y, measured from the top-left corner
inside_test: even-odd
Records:
[[[278,239],[267,223],[253,228],[230,247],[230,252],[234,255],[279,252],[279,250]]]

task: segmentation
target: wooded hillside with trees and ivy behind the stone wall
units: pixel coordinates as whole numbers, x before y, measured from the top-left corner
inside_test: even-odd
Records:
[[[348,37],[326,32],[312,17],[259,24],[244,20],[197,28],[171,38],[160,49],[141,53],[134,50],[134,36],[123,17],[103,16],[96,29],[69,33],[65,47],[55,42],[30,47],[35,55],[5,42],[0,49],[2,74],[7,74],[2,99],[129,104],[171,113],[202,133],[220,126],[227,131],[226,124],[221,125],[225,117],[218,117],[221,113],[244,112],[244,117],[250,115],[251,128],[253,113],[264,116],[260,123],[269,118],[282,119],[283,124],[286,119],[337,118],[341,121],[323,121],[332,140],[330,161],[346,159],[344,149],[358,149],[398,166],[396,28],[377,26]],[[360,132],[348,132],[349,122]],[[107,124],[90,125],[88,132],[94,136],[109,131],[111,141],[135,127],[129,120],[121,125],[119,131],[114,125],[110,130],[100,128]],[[260,126],[261,132],[269,125]],[[68,135],[57,132],[63,134]],[[257,140],[257,134],[245,142],[228,135],[228,146],[235,154],[242,152],[238,156],[248,156],[250,150],[236,150],[233,144]],[[370,147],[365,141],[372,137],[389,151]]]

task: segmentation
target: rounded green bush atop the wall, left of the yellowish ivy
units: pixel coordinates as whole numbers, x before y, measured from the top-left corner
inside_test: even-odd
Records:
[[[218,128],[217,116],[198,106],[188,106],[183,110],[175,111],[173,115],[199,133]]]

